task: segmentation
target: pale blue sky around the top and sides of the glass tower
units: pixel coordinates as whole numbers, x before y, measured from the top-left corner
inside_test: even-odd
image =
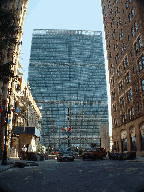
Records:
[[[109,75],[101,0],[29,0],[24,21],[20,55],[25,82],[27,82],[28,77],[33,29],[102,31],[109,105],[109,134],[112,135]]]

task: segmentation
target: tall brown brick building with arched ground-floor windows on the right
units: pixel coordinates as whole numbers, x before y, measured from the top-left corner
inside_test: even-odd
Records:
[[[144,2],[102,0],[117,152],[144,155]]]

